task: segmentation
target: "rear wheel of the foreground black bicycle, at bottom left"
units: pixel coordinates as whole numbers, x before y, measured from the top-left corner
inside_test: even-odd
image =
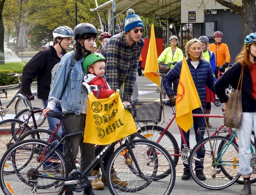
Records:
[[[66,160],[58,149],[47,159],[48,162],[59,163],[59,166],[55,167],[55,172],[44,171],[42,166],[36,170],[43,157],[42,153],[48,149],[48,144],[43,140],[31,139],[18,142],[6,151],[0,162],[0,186],[4,194],[30,194],[34,187],[38,194],[64,192],[66,186],[62,181],[68,177],[68,174]],[[11,161],[8,159],[9,156],[12,157]],[[4,174],[5,167],[10,164],[15,168],[15,174]],[[49,178],[43,178],[43,176]]]

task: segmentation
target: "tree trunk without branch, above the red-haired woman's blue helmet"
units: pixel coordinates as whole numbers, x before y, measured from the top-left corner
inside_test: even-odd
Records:
[[[243,21],[243,29],[242,29],[242,38],[243,40],[250,33],[255,32],[256,27],[256,6],[255,1],[250,1],[244,3],[244,6],[241,7],[241,18]]]

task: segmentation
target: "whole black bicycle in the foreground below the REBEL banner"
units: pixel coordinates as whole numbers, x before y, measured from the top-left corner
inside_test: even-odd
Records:
[[[66,115],[74,114],[70,111],[49,112],[48,115],[60,119]],[[15,143],[3,155],[0,162],[0,186],[5,195],[13,193],[47,193],[61,195],[66,187],[74,192],[82,192],[89,184],[89,180],[99,178],[101,175],[88,177],[90,170],[101,160],[110,147],[115,143],[106,145],[102,152],[84,171],[76,169],[75,158],[72,156],[69,140],[70,136],[79,133],[66,134],[63,128],[64,137],[60,142],[48,143],[39,139],[24,140]],[[58,150],[60,144],[66,143],[70,157],[73,158],[73,171],[67,173],[66,160]],[[120,145],[109,159],[106,169],[106,179],[111,194],[124,192],[137,192],[150,194],[152,188],[158,194],[170,194],[175,183],[174,162],[168,152],[160,145],[146,139],[131,140],[124,138]],[[54,172],[43,170],[44,163],[50,163],[55,169]],[[15,173],[4,174],[5,170],[13,167]],[[162,168],[168,169],[168,175],[158,181],[154,181],[157,173]],[[115,169],[112,172],[112,169]],[[125,180],[126,183],[115,184],[111,176]],[[151,187],[150,187],[151,186]],[[21,190],[22,189],[22,190]]]

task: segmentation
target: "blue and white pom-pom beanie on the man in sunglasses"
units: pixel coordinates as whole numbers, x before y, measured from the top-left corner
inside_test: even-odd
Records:
[[[125,33],[136,27],[143,27],[143,21],[140,16],[136,15],[133,9],[128,9],[127,17],[125,18]]]

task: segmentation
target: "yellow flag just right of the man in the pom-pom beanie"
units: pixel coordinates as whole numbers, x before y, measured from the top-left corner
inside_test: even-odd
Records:
[[[160,87],[160,77],[159,77],[159,67],[157,61],[157,52],[156,52],[156,44],[155,44],[155,31],[154,25],[151,26],[151,35],[149,41],[149,50],[147,54],[144,76],[149,80],[153,81]]]

